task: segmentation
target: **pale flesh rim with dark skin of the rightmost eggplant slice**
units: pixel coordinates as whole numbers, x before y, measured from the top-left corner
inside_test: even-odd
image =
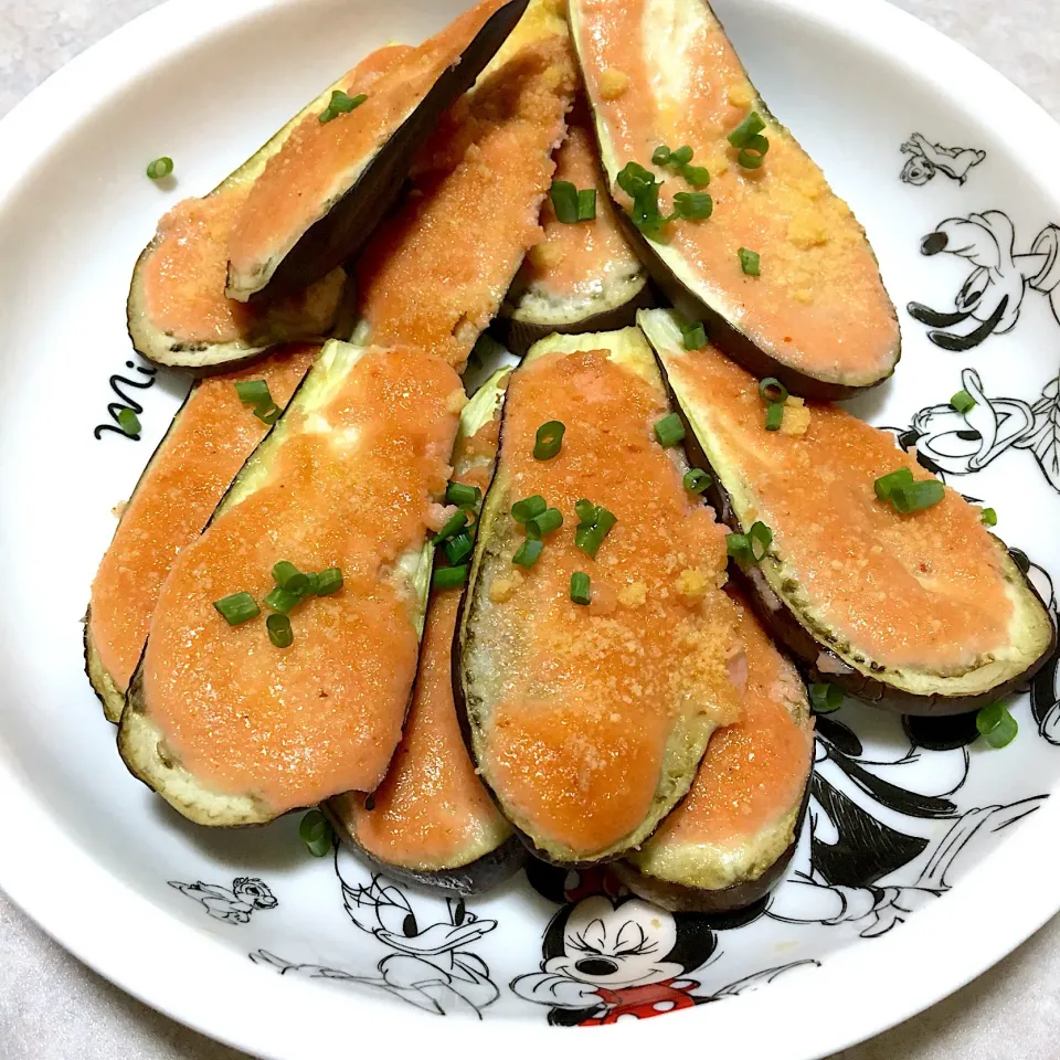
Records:
[[[745,533],[757,518],[753,484],[742,480],[727,456],[724,439],[711,432],[706,410],[697,407],[697,400],[672,371],[681,358],[696,357],[685,350],[679,319],[667,310],[647,310],[639,314],[638,322],[655,347],[685,421],[689,459],[712,478],[708,500],[733,531]],[[760,621],[813,680],[837,685],[858,699],[899,713],[957,714],[1018,689],[1056,648],[1056,630],[1037,591],[1006,545],[992,538],[1005,593],[1014,607],[1008,643],[956,674],[941,674],[930,667],[886,666],[873,658],[868,644],[854,644],[842,637],[822,617],[809,587],[799,581],[797,556],[781,554],[775,543],[757,565],[734,570]],[[871,616],[866,619],[866,628],[872,628]]]

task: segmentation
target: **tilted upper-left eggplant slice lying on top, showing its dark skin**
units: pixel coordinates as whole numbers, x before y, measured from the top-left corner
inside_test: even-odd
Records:
[[[269,158],[229,234],[225,294],[301,290],[357,255],[398,201],[415,150],[504,43],[527,0],[480,0],[367,89],[339,86]]]

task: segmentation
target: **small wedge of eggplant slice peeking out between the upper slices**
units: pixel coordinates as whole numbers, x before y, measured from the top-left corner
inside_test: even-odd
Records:
[[[515,353],[552,332],[624,328],[638,308],[651,305],[640,259],[615,219],[584,99],[555,152],[541,222],[544,239],[527,255],[500,318]]]

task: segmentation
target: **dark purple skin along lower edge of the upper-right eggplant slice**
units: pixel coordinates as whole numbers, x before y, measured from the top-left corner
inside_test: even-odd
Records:
[[[662,258],[656,253],[651,241],[642,234],[621,205],[616,204],[615,215],[619,219],[619,226],[627,242],[636,251],[648,276],[651,277],[651,280],[669,304],[686,320],[701,320],[710,341],[738,364],[746,369],[755,379],[766,379],[767,377],[778,379],[791,393],[813,401],[841,401],[845,398],[852,398],[855,394],[871,390],[873,386],[879,386],[880,383],[894,374],[894,369],[901,358],[901,340],[899,340],[898,348],[894,351],[890,371],[867,385],[855,386],[835,383],[795,371],[791,365],[776,360],[755,346],[727,317],[712,309],[693,292],[689,290],[670,272]]]

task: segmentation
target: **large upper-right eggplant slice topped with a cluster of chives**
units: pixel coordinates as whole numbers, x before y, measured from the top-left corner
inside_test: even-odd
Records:
[[[571,0],[570,17],[604,167],[627,222],[634,191],[627,230],[670,303],[792,393],[834,400],[887,379],[901,337],[865,232],[706,0]],[[627,171],[619,191],[630,162],[646,184]]]

